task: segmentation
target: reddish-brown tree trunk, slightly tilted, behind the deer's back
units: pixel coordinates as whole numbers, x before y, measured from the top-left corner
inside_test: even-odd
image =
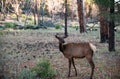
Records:
[[[79,17],[80,33],[83,33],[83,32],[85,32],[84,13],[83,13],[83,0],[77,0],[77,6],[78,6],[78,17]]]

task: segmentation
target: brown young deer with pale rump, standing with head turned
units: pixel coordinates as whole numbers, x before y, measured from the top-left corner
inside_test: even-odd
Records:
[[[73,67],[75,69],[75,74],[77,76],[77,69],[75,67],[73,58],[86,58],[91,66],[90,79],[92,79],[94,68],[95,68],[92,57],[93,57],[93,53],[96,51],[96,47],[89,42],[65,44],[65,41],[64,41],[65,37],[58,37],[57,35],[55,35],[55,37],[59,40],[59,50],[63,53],[63,55],[69,61],[68,77],[70,77],[71,64],[73,64]]]

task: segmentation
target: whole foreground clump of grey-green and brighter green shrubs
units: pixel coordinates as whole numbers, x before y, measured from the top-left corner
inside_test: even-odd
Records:
[[[18,79],[50,79],[55,75],[55,70],[47,60],[39,61],[35,67],[24,68],[19,74]]]

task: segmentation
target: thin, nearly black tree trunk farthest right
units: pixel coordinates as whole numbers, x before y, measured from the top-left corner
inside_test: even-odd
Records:
[[[114,0],[111,0],[110,22],[109,22],[109,51],[115,51],[115,34],[114,34]]]

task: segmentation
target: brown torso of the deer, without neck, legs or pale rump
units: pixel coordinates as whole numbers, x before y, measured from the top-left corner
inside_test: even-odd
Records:
[[[93,53],[90,43],[68,43],[64,45],[64,55],[67,58],[75,57],[75,58],[83,58],[90,53]]]

